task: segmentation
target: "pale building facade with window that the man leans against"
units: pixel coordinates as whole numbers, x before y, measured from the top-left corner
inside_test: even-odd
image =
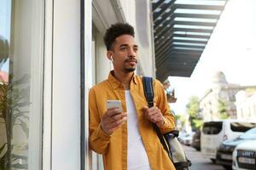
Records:
[[[87,97],[112,69],[102,37],[115,22],[135,26],[137,74],[154,77],[149,0],[0,1],[1,166],[102,169]]]

